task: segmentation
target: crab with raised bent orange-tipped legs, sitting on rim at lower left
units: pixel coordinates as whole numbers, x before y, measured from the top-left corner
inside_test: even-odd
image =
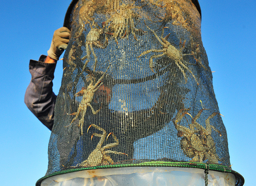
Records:
[[[112,135],[112,137],[115,140],[115,142],[111,143],[111,144],[108,144],[108,145],[105,145],[105,146],[102,147],[102,145],[103,145],[103,143],[104,143],[104,141],[105,141],[105,139],[107,137],[107,132],[103,128],[100,128],[97,125],[91,124],[89,126],[89,128],[91,126],[96,128],[96,129],[98,129],[99,131],[102,131],[102,134],[98,134],[98,133],[93,133],[92,134],[92,137],[93,136],[99,137],[100,141],[98,142],[97,147],[88,156],[87,160],[84,160],[82,163],[78,164],[78,166],[84,166],[84,167],[90,166],[90,167],[93,167],[93,166],[98,166],[98,165],[102,165],[102,164],[113,164],[114,161],[108,155],[109,153],[127,155],[125,153],[121,153],[121,152],[117,152],[117,151],[106,150],[106,149],[109,149],[109,148],[112,148],[112,147],[116,147],[116,146],[119,145],[119,141],[116,138],[116,136],[113,134],[113,132],[110,132],[108,134],[108,136]],[[87,133],[89,131],[89,128],[87,130]],[[91,139],[92,139],[92,137],[91,137]],[[108,140],[108,137],[107,137],[107,140]]]

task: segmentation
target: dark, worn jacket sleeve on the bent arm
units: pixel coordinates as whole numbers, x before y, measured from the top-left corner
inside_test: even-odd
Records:
[[[56,63],[44,63],[45,58],[45,55],[41,55],[39,61],[29,62],[32,77],[25,93],[25,104],[48,129],[52,130],[57,97],[52,91]]]

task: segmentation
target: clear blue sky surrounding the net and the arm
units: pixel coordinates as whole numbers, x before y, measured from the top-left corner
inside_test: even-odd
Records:
[[[34,186],[47,170],[50,131],[27,109],[30,59],[47,54],[70,1],[2,0],[0,8],[0,184]],[[199,0],[202,40],[228,133],[232,169],[255,185],[256,1]],[[55,70],[58,94],[62,62]]]

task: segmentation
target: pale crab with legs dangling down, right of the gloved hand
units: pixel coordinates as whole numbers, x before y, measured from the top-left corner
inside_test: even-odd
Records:
[[[98,62],[98,58],[94,52],[93,47],[105,49],[108,45],[108,39],[106,37],[105,37],[105,42],[101,43],[100,40],[102,39],[102,34],[103,34],[103,29],[101,29],[101,28],[91,28],[91,30],[88,32],[88,34],[86,36],[86,41],[85,41],[86,55],[81,59],[82,61],[86,59],[86,61],[84,62],[83,71],[85,70],[88,62],[91,59],[91,54],[94,57],[93,70],[95,71],[96,65]]]

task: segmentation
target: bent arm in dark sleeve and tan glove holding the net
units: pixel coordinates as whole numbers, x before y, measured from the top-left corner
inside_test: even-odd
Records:
[[[48,56],[41,55],[38,61],[30,60],[31,81],[25,93],[28,109],[50,130],[54,120],[56,95],[52,91],[52,80],[57,60],[67,48],[70,31],[61,27],[53,34]]]

